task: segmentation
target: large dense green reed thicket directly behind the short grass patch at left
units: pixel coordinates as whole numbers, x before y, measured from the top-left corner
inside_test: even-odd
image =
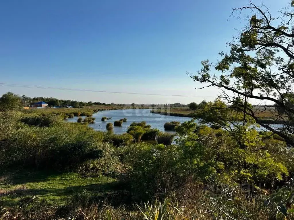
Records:
[[[4,132],[4,131],[3,131]],[[6,136],[1,162],[13,166],[74,171],[85,161],[101,158],[103,132],[79,123],[39,128],[23,125]]]

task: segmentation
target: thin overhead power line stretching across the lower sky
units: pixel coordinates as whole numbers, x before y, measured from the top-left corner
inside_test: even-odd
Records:
[[[81,92],[104,92],[104,93],[133,94],[133,95],[215,98],[215,96],[189,96],[189,95],[149,94],[149,93],[135,93],[135,92],[112,92],[112,91],[103,91],[103,90],[70,89],[70,88],[44,87],[44,86],[20,85],[20,84],[9,84],[9,83],[0,83],[0,86],[3,86],[3,87],[21,87],[21,88],[31,88],[31,89],[55,89],[55,90],[67,90],[67,91],[81,91]]]

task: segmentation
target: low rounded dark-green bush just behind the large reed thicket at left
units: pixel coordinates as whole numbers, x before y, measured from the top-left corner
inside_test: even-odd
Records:
[[[49,126],[54,126],[56,124],[62,123],[61,117],[57,115],[26,116],[21,119],[21,122],[31,126],[39,126],[39,127],[49,127]]]

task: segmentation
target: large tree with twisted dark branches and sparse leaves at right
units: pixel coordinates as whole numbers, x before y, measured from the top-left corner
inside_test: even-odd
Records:
[[[214,66],[208,60],[202,61],[198,74],[188,75],[205,84],[197,89],[220,88],[220,98],[228,105],[242,99],[237,106],[240,111],[294,146],[294,109],[287,104],[285,95],[293,92],[294,10],[286,7],[280,10],[280,16],[274,17],[264,4],[259,7],[250,3],[233,9],[232,15],[241,18],[245,10],[252,16],[233,42],[228,43],[230,52],[220,52],[222,59]],[[212,72],[212,67],[220,73]],[[248,105],[248,101],[256,105]],[[277,108],[284,109],[284,113]],[[283,126],[275,128],[264,123],[259,115],[265,111],[270,111],[271,119],[280,120]]]

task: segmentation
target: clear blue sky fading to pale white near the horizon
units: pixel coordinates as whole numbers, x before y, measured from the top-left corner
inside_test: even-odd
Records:
[[[245,0],[9,0],[0,3],[2,83],[207,96],[186,75],[216,61],[242,22],[228,17]],[[260,1],[254,1],[259,4]],[[288,0],[267,0],[273,12]],[[245,22],[243,22],[244,24]],[[1,87],[29,97],[115,103],[189,103],[164,97]]]

